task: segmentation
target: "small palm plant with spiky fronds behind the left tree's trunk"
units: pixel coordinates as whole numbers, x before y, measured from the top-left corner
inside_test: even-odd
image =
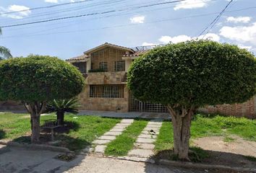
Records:
[[[56,112],[59,125],[64,125],[64,114],[70,112],[73,114],[78,113],[80,104],[77,98],[72,99],[54,99],[46,105],[46,113]]]

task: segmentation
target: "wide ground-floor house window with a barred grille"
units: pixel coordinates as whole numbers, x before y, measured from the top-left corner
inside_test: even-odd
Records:
[[[90,97],[124,98],[124,85],[90,85]]]

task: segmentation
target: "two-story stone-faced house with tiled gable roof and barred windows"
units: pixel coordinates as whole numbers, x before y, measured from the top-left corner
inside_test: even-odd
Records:
[[[81,110],[167,112],[161,104],[140,102],[127,89],[129,66],[147,51],[105,43],[68,59],[86,78],[80,94]]]

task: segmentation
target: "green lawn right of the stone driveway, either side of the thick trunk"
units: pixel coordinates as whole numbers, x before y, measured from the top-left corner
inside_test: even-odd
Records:
[[[197,114],[192,120],[191,138],[205,136],[223,136],[225,141],[232,141],[230,135],[236,135],[248,141],[256,141],[256,120],[245,117],[207,117]],[[173,128],[171,122],[165,121],[155,141],[155,151],[163,151],[174,147]]]

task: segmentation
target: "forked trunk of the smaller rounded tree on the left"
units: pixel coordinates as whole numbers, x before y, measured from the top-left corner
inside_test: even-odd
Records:
[[[40,114],[46,107],[46,102],[29,102],[25,107],[30,112],[31,143],[38,143],[40,137]]]

